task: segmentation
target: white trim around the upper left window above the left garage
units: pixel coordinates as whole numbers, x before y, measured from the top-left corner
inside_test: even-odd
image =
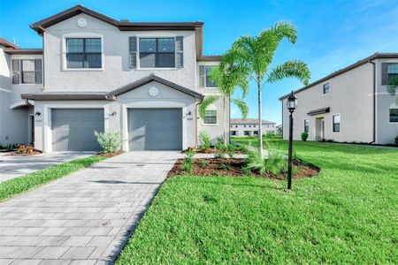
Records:
[[[101,68],[68,68],[66,62],[66,39],[68,38],[100,38],[101,39]],[[62,71],[65,72],[102,72],[105,70],[105,56],[103,54],[103,34],[69,33],[62,35]]]

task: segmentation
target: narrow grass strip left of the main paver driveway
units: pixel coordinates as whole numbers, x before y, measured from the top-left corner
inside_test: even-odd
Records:
[[[0,183],[0,201],[5,201],[26,193],[38,186],[42,186],[57,178],[62,178],[74,171],[86,168],[93,163],[97,163],[105,159],[102,155],[92,155],[86,158],[76,159],[66,163],[60,163],[44,170],[34,171],[19,178],[12,178]]]

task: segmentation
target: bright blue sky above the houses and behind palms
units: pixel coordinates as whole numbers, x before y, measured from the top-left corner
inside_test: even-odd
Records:
[[[41,48],[28,26],[74,4],[130,21],[195,21],[204,26],[204,53],[220,55],[241,35],[256,35],[275,22],[295,24],[295,45],[282,42],[273,64],[301,59],[311,80],[379,52],[398,52],[398,1],[18,1],[0,0],[0,36],[23,48]],[[302,87],[286,79],[264,87],[264,118],[280,123],[279,96]],[[300,98],[298,99],[300,101]],[[247,97],[249,117],[257,117],[256,87]],[[240,117],[232,110],[233,117]]]

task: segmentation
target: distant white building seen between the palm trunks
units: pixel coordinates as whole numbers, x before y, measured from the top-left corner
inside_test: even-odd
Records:
[[[253,136],[258,135],[258,119],[256,118],[231,118],[231,136]],[[275,123],[263,119],[263,135],[275,134]]]

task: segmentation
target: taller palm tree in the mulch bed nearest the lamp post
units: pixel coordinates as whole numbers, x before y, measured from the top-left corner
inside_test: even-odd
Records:
[[[255,80],[258,93],[258,149],[263,158],[262,129],[262,93],[264,83],[274,83],[287,77],[295,77],[303,84],[310,81],[310,70],[300,60],[290,60],[279,64],[269,71],[270,64],[279,43],[287,39],[295,43],[297,31],[287,22],[279,22],[264,30],[258,36],[243,36],[233,42],[232,48],[226,51],[218,64],[219,72],[227,73],[225,79],[229,87],[241,86],[243,91],[249,89],[249,81]],[[231,85],[233,84],[233,85]]]

